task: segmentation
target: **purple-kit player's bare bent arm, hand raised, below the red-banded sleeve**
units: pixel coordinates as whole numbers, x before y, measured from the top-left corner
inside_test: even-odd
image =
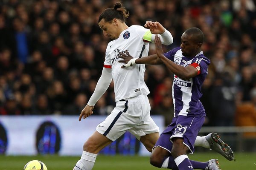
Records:
[[[195,67],[191,65],[183,67],[181,65],[175,64],[174,62],[166,58],[163,55],[160,38],[157,35],[155,36],[155,45],[156,45],[157,57],[159,57],[159,59],[161,59],[161,61],[166,65],[166,67],[170,71],[172,71],[177,77],[180,77],[181,79],[186,80],[198,75],[198,70]]]

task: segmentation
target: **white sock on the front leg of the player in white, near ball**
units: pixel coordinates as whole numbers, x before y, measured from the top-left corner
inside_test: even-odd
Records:
[[[73,170],[92,170],[97,154],[83,150],[81,159],[76,163]]]

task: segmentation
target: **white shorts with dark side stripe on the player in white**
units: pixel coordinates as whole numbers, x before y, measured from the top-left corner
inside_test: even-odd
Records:
[[[141,136],[159,132],[159,127],[150,117],[148,97],[140,95],[116,102],[116,107],[96,130],[111,141],[115,141],[126,131],[140,140]]]

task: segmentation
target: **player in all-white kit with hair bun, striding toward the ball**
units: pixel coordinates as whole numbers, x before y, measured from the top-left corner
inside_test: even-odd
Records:
[[[99,17],[99,26],[105,36],[113,41],[106,49],[104,68],[93,95],[81,111],[81,118],[93,114],[93,107],[108,89],[113,79],[116,95],[116,107],[111,114],[96,127],[95,133],[84,143],[81,159],[73,170],[91,170],[97,153],[102,148],[129,131],[148,151],[152,151],[159,137],[159,127],[150,117],[150,104],[147,95],[150,93],[144,82],[145,65],[134,65],[121,68],[119,53],[128,51],[138,58],[148,56],[149,41],[154,42],[154,35],[159,34],[162,44],[172,44],[172,34],[158,22],[148,22],[150,29],[143,26],[125,24],[128,12],[122,3],[116,3],[114,8],[105,9]]]

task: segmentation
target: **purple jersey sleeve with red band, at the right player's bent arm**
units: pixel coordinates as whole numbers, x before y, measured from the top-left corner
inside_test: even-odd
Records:
[[[209,59],[197,57],[197,58],[193,59],[193,61],[190,65],[195,67],[198,70],[198,75],[199,74],[208,74]]]

